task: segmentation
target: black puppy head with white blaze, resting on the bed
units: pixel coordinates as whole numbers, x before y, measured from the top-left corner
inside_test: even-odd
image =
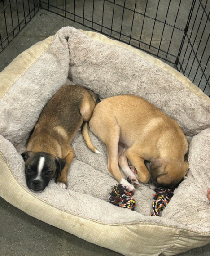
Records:
[[[22,153],[22,157],[25,161],[27,186],[35,192],[43,191],[55,174],[61,175],[66,163],[65,160],[46,152],[27,151]]]

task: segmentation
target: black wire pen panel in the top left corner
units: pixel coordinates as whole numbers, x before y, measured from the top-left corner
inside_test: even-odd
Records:
[[[0,1],[0,52],[39,10],[40,0]]]

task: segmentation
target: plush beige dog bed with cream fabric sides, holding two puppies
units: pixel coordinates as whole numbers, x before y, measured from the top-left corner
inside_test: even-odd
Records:
[[[20,154],[39,114],[66,83],[94,90],[101,99],[144,97],[175,119],[190,141],[189,171],[161,217],[150,216],[149,185],[136,190],[136,210],[109,204],[116,180],[106,147],[92,153],[80,132],[72,146],[68,189],[53,180],[42,193],[26,186]],[[162,61],[100,34],[62,28],[20,54],[0,73],[0,196],[31,216],[127,256],[175,255],[210,242],[210,99]]]

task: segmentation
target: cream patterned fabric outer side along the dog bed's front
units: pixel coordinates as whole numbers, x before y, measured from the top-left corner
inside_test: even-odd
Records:
[[[190,247],[191,240],[193,246],[197,247],[208,243],[210,237],[209,234],[198,234],[149,223],[108,225],[57,209],[40,200],[18,183],[1,152],[0,196],[39,220],[127,256],[158,256],[161,252],[164,254],[166,252],[165,255],[173,255],[174,252],[179,253]],[[155,244],[158,246],[153,246]],[[175,244],[177,246],[174,248]]]

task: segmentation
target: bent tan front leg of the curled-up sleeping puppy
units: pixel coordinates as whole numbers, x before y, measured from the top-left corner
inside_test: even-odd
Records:
[[[148,183],[150,180],[150,174],[147,167],[144,164],[144,159],[141,158],[135,148],[128,148],[124,155],[130,160],[131,164],[136,168],[136,178],[142,183]]]

